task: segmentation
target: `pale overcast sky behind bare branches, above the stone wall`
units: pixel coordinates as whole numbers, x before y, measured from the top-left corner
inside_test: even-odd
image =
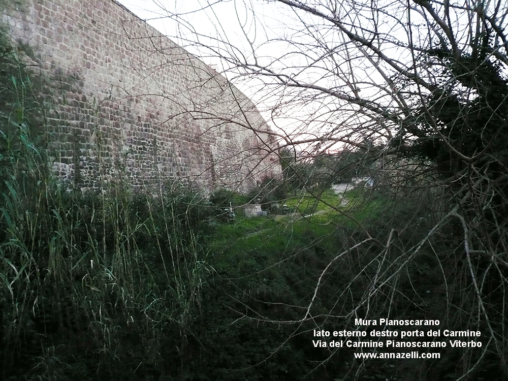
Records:
[[[427,91],[408,81],[407,73],[437,84],[450,79],[425,55],[442,38],[441,27],[415,2],[309,1],[326,15],[320,18],[266,0],[118,1],[218,72],[227,71],[275,130],[299,140],[314,134],[323,141],[332,135],[360,141],[372,131],[376,139],[391,139],[398,126],[363,105],[403,117],[401,104],[419,104]],[[464,4],[470,8],[454,2],[447,17],[456,42],[467,50],[478,14],[473,0]],[[439,3],[435,7],[442,15]],[[240,75],[218,56],[247,69]]]

